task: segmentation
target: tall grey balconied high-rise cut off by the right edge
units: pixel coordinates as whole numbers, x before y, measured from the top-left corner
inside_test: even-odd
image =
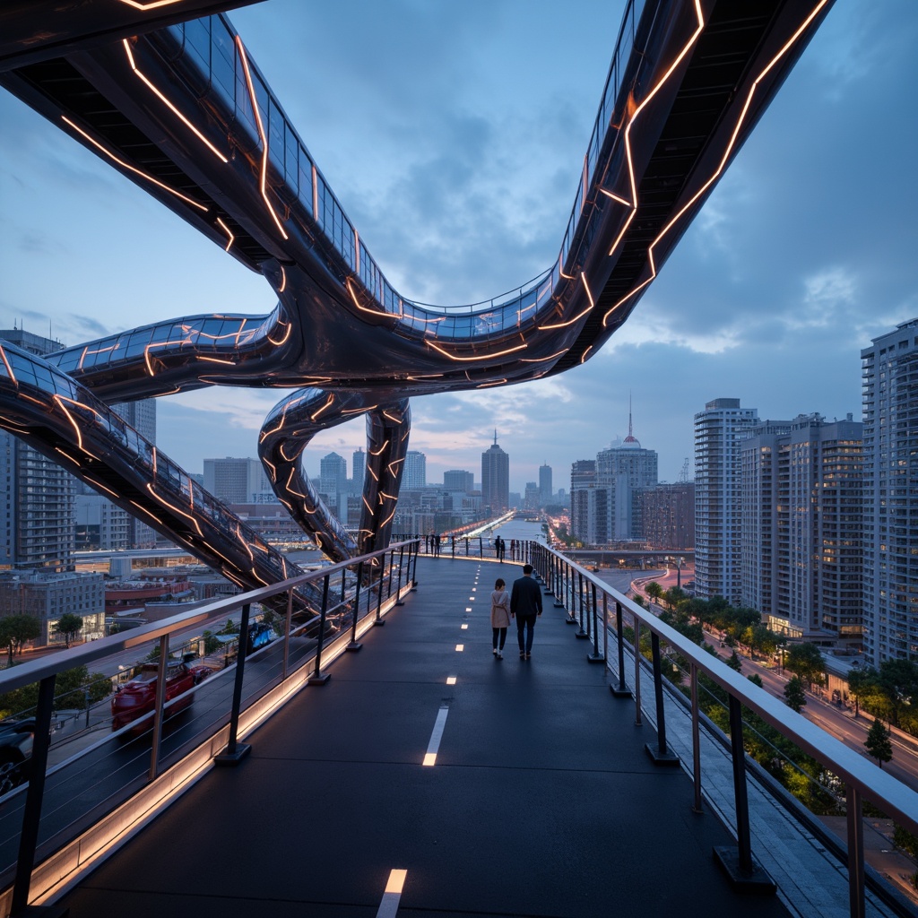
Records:
[[[861,351],[865,650],[918,660],[918,319]]]

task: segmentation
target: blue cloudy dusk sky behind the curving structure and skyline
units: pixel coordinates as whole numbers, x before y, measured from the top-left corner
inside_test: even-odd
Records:
[[[458,304],[556,257],[621,0],[267,0],[230,18],[389,280]],[[859,352],[918,316],[914,0],[836,0],[820,33],[633,316],[547,381],[412,400],[428,480],[498,431],[511,490],[628,432],[661,480],[693,415],[860,413]],[[0,327],[66,345],[155,319],[264,313],[265,282],[15,98],[0,93]],[[161,399],[158,441],[192,472],[254,456],[284,393]],[[350,459],[364,426],[309,447]]]

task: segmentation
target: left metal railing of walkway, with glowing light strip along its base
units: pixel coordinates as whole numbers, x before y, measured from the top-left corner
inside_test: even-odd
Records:
[[[98,835],[94,844],[101,852],[111,839],[100,831],[100,825],[109,820],[120,824],[120,830],[112,830],[115,835],[123,833],[125,823],[135,817],[118,812],[129,808],[132,800],[145,795],[142,809],[149,811],[151,799],[155,807],[174,795],[172,785],[194,779],[211,765],[232,764],[245,756],[249,747],[241,743],[243,733],[300,686],[326,682],[329,674],[323,666],[330,655],[359,649],[360,634],[385,623],[384,612],[400,604],[404,593],[415,587],[418,546],[416,541],[393,544],[0,672],[0,694],[39,686],[32,751],[24,766],[27,781],[0,798],[0,883],[4,888],[0,913],[24,913],[30,901],[52,895],[65,882],[62,864],[71,858],[74,874],[77,868],[84,869],[92,852],[86,850],[85,839],[81,845],[81,835],[92,829]],[[318,589],[320,608],[308,621],[294,622],[296,590],[304,585]],[[266,602],[283,606],[283,599],[278,602],[276,598],[284,596],[285,616],[273,613],[279,640],[250,652],[252,608]],[[189,629],[206,621],[221,621],[237,610],[241,610],[241,621],[235,664],[171,697],[167,680],[170,661],[175,665],[171,640],[177,641],[184,633],[181,645],[186,648]],[[194,643],[203,644],[203,638],[196,634]],[[80,753],[49,766],[49,756],[56,751],[50,732],[58,674],[98,665],[106,658],[114,666],[113,655],[142,653],[139,648],[144,647],[151,648],[145,659],[157,666],[151,707],[139,708],[135,720],[106,731],[100,739],[90,738]],[[113,699],[114,713],[118,696]],[[183,772],[181,779],[173,777],[177,770]],[[78,854],[68,855],[69,849],[81,847]],[[53,866],[43,872],[42,866],[51,862]]]

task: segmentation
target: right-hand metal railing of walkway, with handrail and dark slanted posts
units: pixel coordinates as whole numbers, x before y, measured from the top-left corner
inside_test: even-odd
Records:
[[[647,744],[647,752],[659,765],[678,765],[666,739],[664,694],[668,680],[663,677],[664,651],[677,655],[689,669],[689,701],[692,734],[690,771],[694,784],[694,808],[702,800],[700,733],[712,726],[700,711],[700,677],[707,677],[727,696],[729,711],[730,755],[733,763],[733,796],[735,800],[734,833],[737,847],[718,848],[717,856],[734,885],[759,886],[771,883],[752,853],[749,808],[746,792],[747,755],[744,751],[743,711],[750,711],[812,756],[826,771],[838,778],[845,789],[846,864],[848,898],[852,918],[866,914],[866,870],[864,861],[863,803],[868,801],[912,834],[918,834],[918,793],[874,765],[855,750],[848,748],[780,700],[760,689],[749,679],[734,672],[718,658],[678,633],[653,612],[611,588],[599,577],[577,565],[554,549],[541,543],[528,543],[526,556],[541,577],[546,595],[555,598],[557,608],[567,610],[570,624],[577,626],[577,637],[590,644],[588,660],[602,662],[611,675],[613,695],[633,699],[635,722],[642,722],[642,687],[649,677],[654,693],[656,743]],[[629,630],[630,641],[626,641]],[[642,635],[650,635],[651,660],[644,658]],[[608,654],[608,642],[615,644],[614,662]],[[626,655],[633,659],[633,688],[626,684]],[[677,693],[678,694],[678,693]],[[683,700],[684,696],[678,697]],[[773,885],[773,884],[772,884]]]

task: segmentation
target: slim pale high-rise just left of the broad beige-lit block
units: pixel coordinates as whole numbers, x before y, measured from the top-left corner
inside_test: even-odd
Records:
[[[715,398],[695,415],[695,593],[737,605],[741,585],[740,442],[758,418],[739,398]]]

